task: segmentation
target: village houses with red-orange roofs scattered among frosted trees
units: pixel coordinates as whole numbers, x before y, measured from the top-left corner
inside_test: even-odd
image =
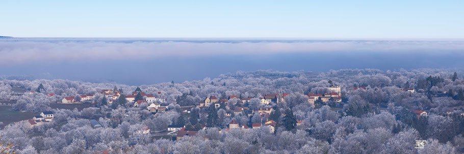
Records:
[[[330,101],[332,103],[338,103],[338,105],[332,106],[332,109],[337,111],[337,106],[342,107],[344,103],[346,103],[346,100],[344,100],[344,97],[341,95],[341,86],[339,85],[330,85],[327,88],[328,93],[325,94],[314,94],[310,93],[305,95],[308,104],[310,104],[311,107],[316,107],[320,108],[323,105],[327,105],[327,102]],[[359,86],[359,87],[352,87],[351,90],[366,90],[366,86]],[[398,88],[398,90],[401,91],[407,91],[408,93],[416,93],[415,89],[412,88]],[[35,93],[35,91],[30,91],[28,93]],[[105,96],[105,98],[108,100],[108,106],[111,106],[112,103],[117,102],[120,100],[120,97],[123,96],[118,90],[112,90],[112,89],[102,89],[101,91],[98,92],[99,94],[102,94]],[[349,91],[348,91],[349,93]],[[159,91],[158,94],[161,94]],[[249,109],[247,105],[250,102],[251,99],[253,98],[241,98],[239,96],[227,96],[225,99],[219,99],[216,96],[210,96],[207,98],[204,98],[203,101],[201,102],[196,102],[195,106],[181,106],[180,108],[182,109],[182,112],[184,114],[190,114],[191,109],[198,107],[200,108],[199,116],[209,116],[208,114],[211,113],[211,110],[217,111],[217,109],[225,109],[226,111],[226,116],[227,117],[234,117],[234,115],[242,114],[248,116],[250,119],[253,118],[253,116],[259,115],[261,116],[260,119],[269,119],[272,113],[274,113],[275,106],[278,105],[279,103],[285,102],[286,97],[289,94],[283,93],[283,94],[265,94],[262,97],[255,98],[259,99],[260,104],[262,106],[266,107],[259,107],[257,109]],[[55,94],[48,94],[47,97],[52,97],[55,96]],[[147,95],[144,92],[140,90],[140,88],[137,87],[136,91],[132,92],[132,95],[127,95],[123,96],[126,103],[131,104],[131,107],[133,108],[146,108],[152,116],[156,117],[159,116],[160,114],[166,113],[169,111],[169,106],[166,104],[166,100],[161,99],[161,98],[156,98],[153,95]],[[228,101],[236,101],[237,103],[234,106],[229,106]],[[84,94],[84,95],[79,95],[76,97],[65,97],[61,100],[61,104],[82,104],[82,103],[90,103],[94,101],[94,95],[92,94]],[[270,106],[270,104],[273,104],[274,106]],[[454,111],[450,110],[447,112],[447,114],[452,114]],[[412,111],[415,115],[417,115],[418,118],[421,116],[427,116],[426,111],[421,111],[421,110],[414,110]],[[285,116],[286,113],[280,113],[281,116]],[[461,113],[461,115],[464,115],[464,113]],[[31,128],[34,126],[39,126],[43,124],[44,122],[49,122],[52,121],[54,117],[53,112],[51,111],[44,111],[40,113],[40,115],[34,116],[31,120],[28,120],[29,124],[31,125]],[[199,118],[199,117],[198,117]],[[251,121],[251,120],[250,120]],[[302,120],[297,120],[296,121],[296,127],[300,126],[302,124]],[[97,119],[90,119],[90,125],[92,128],[97,129],[101,128],[102,126],[100,123],[97,121]],[[239,122],[236,119],[233,119],[229,122],[227,127],[220,128],[220,132],[222,131],[229,131],[230,129],[260,129],[262,127],[265,127],[269,130],[269,133],[274,133],[276,129],[277,122],[269,119],[265,121],[261,121],[260,123],[252,123],[250,122],[249,124],[239,124]],[[185,124],[172,124],[167,127],[167,130],[165,131],[150,131],[148,127],[142,128],[139,132],[142,134],[147,134],[153,138],[156,138],[157,136],[164,137],[164,138],[169,138],[172,140],[181,140],[185,136],[195,136],[198,133],[198,130],[205,130],[208,129],[207,124],[200,124],[197,123],[195,126],[185,126]]]

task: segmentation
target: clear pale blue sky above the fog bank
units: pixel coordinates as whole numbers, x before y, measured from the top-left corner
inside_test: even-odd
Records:
[[[0,1],[0,36],[464,38],[464,1]]]

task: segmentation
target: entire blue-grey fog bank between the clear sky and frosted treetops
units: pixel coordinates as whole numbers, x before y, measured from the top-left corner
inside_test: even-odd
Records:
[[[0,75],[183,82],[235,71],[462,68],[462,40],[0,39]]]

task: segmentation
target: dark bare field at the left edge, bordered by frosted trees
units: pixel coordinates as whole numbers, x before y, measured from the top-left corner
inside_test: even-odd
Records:
[[[4,128],[11,122],[32,119],[34,115],[39,115],[39,113],[19,112],[10,109],[10,106],[0,106],[0,122],[3,122],[3,125],[1,125],[0,128]]]

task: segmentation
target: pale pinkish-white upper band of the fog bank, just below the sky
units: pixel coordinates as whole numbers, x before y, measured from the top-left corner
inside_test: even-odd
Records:
[[[462,52],[464,41],[239,39],[0,39],[0,65],[40,61],[154,59],[167,56],[265,55],[320,52]]]

